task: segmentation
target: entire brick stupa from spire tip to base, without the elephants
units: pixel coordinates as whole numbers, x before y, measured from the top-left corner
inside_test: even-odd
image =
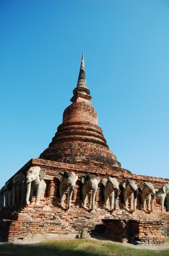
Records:
[[[152,183],[156,191],[169,183],[169,179],[133,174],[121,168],[98,126],[97,113],[90,102],[91,96],[87,88],[83,55],[73,94],[72,104],[64,110],[62,124],[58,127],[49,147],[40,158],[32,158],[13,174],[0,190],[0,241],[75,238],[86,229],[89,232],[100,232],[115,241],[163,244],[165,236],[169,234],[169,212],[162,212],[156,197],[154,212],[145,212],[139,196],[135,198],[137,210],[129,212],[124,209],[122,191],[124,181],[129,179],[135,181],[137,187],[145,181]],[[30,204],[24,200],[22,203],[21,200],[17,204],[13,203],[11,195],[14,186],[17,194],[23,195],[23,199],[26,198],[29,183],[24,177],[27,177],[27,170],[35,166],[44,173],[43,177],[41,174],[38,176],[38,181],[42,179],[46,184],[40,204],[35,204],[36,191],[29,197]],[[66,209],[68,188],[66,187],[63,204],[60,203],[58,193],[61,184],[58,177],[63,172],[67,175],[74,172],[78,176],[69,209]],[[15,177],[19,176],[17,174],[23,177],[20,184],[13,183]],[[100,181],[93,210],[89,200],[91,191],[85,209],[82,204],[82,177],[89,176],[97,177]],[[110,210],[110,203],[108,208],[105,207],[103,199],[103,181],[111,178],[116,178],[120,187],[113,212]],[[38,181],[34,180],[32,184]],[[112,193],[109,199],[111,196]]]

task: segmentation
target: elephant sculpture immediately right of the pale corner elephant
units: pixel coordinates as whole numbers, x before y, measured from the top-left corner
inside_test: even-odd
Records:
[[[76,184],[76,181],[78,180],[78,176],[74,172],[67,172],[67,171],[59,172],[58,180],[60,181],[60,184],[59,184],[60,204],[63,207],[64,194],[68,189],[66,208],[69,209],[72,201],[72,193],[74,191],[74,186]]]

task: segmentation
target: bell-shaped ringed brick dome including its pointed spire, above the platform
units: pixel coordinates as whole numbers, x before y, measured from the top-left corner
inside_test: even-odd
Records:
[[[86,86],[83,56],[80,74],[73,91],[72,104],[64,110],[62,124],[58,126],[52,142],[40,158],[73,164],[111,164],[120,167],[121,164],[107,146],[98,125],[97,112],[90,102],[92,97]]]

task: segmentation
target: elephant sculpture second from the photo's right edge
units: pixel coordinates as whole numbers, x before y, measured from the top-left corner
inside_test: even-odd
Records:
[[[148,211],[153,212],[154,210],[154,195],[156,191],[150,182],[144,182],[139,186],[140,198],[142,201],[142,208],[146,211],[146,199],[148,199]]]

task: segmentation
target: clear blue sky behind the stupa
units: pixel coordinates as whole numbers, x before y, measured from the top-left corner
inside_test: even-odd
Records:
[[[48,147],[87,85],[123,168],[169,178],[169,1],[0,1],[0,187]]]

